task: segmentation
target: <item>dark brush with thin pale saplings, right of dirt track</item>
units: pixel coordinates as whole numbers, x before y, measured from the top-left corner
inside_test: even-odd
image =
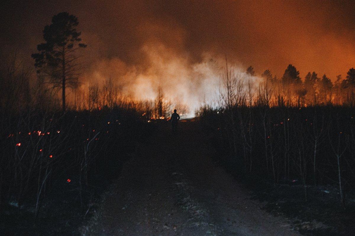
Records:
[[[198,115],[220,154],[218,161],[248,183],[256,198],[267,201],[269,211],[333,228],[320,235],[353,232],[353,107],[235,105],[204,107]]]

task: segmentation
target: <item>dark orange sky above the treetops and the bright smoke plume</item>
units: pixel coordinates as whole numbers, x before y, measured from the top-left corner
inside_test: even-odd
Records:
[[[287,3],[286,3],[287,2]],[[332,79],[355,66],[351,1],[7,1],[1,3],[1,52],[35,51],[51,16],[78,16],[87,66],[119,60],[149,70],[145,45],[162,44],[191,64],[222,56],[257,73],[281,76],[293,64]]]

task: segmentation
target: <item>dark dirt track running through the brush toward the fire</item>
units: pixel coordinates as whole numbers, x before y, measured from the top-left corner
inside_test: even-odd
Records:
[[[194,124],[141,144],[108,192],[90,235],[299,235],[215,167]]]

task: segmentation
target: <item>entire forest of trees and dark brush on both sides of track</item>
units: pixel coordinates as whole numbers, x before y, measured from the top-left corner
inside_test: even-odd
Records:
[[[301,78],[289,64],[277,77],[230,65],[226,57],[217,99],[191,111],[162,86],[149,100],[123,93],[114,77],[84,84],[79,52],[90,45],[77,25],[67,12],[53,16],[31,55],[34,66],[16,55],[1,64],[4,232],[79,235],[138,147],[155,133],[174,140],[166,128],[174,109],[193,118],[181,119],[192,125],[181,125],[179,135],[203,132],[216,165],[267,201],[269,211],[326,222],[339,235],[354,228],[354,68],[336,78],[315,71]],[[195,117],[186,116],[191,112]],[[169,145],[162,150],[174,149]]]

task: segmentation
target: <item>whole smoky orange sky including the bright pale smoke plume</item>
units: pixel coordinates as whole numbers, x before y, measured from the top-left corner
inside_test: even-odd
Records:
[[[355,64],[351,1],[4,1],[2,54],[29,55],[51,16],[68,11],[88,44],[81,80],[111,77],[122,93],[196,108],[213,100],[223,61],[281,76],[288,64],[331,79]]]

